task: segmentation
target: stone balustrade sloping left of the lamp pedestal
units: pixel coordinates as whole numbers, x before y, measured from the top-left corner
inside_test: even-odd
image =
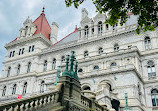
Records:
[[[55,90],[49,93],[1,104],[0,111],[36,111],[43,106],[56,104],[58,102],[58,98],[59,91]]]

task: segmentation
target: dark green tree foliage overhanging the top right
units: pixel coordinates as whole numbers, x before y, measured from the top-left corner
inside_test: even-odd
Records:
[[[65,0],[66,6],[74,5],[78,8],[86,0]],[[158,26],[158,1],[157,0],[92,0],[99,13],[109,13],[109,18],[105,21],[110,25],[115,25],[120,19],[123,25],[128,18],[128,13],[138,15],[138,25],[136,32],[153,31]]]

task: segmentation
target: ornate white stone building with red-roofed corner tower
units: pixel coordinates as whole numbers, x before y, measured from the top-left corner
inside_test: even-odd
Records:
[[[138,35],[131,13],[123,26],[105,24],[105,14],[89,18],[86,9],[81,14],[81,26],[60,41],[59,26],[50,26],[44,11],[34,22],[25,20],[17,38],[5,45],[0,101],[49,92],[57,66],[64,70],[66,55],[75,51],[85,95],[93,93],[99,104],[123,111],[127,93],[131,111],[157,110],[158,30]]]

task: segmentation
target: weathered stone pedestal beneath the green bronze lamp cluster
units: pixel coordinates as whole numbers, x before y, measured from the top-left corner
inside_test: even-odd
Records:
[[[61,103],[63,105],[66,105],[64,111],[69,111],[73,109],[74,107],[83,109],[84,111],[84,107],[81,104],[80,82],[69,76],[61,76],[58,83],[63,84],[61,88],[62,93],[63,93]]]

